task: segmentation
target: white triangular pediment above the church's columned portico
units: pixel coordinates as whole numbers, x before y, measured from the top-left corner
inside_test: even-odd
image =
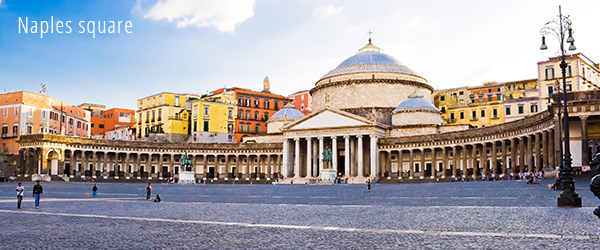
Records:
[[[358,127],[370,125],[373,125],[373,123],[362,116],[358,116],[337,109],[324,108],[288,125],[284,129],[290,131],[315,128]]]

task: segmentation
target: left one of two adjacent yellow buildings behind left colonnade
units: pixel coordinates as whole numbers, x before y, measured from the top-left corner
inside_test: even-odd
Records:
[[[138,99],[136,129],[138,139],[147,138],[152,141],[183,141],[190,130],[190,99],[200,96],[162,92]]]

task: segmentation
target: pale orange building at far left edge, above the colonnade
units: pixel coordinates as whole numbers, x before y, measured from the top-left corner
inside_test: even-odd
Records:
[[[27,91],[0,94],[2,152],[19,152],[20,135],[62,134],[90,136],[90,114],[50,96]]]

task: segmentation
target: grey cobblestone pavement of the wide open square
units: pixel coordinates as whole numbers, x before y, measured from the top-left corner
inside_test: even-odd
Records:
[[[523,181],[374,185],[0,183],[1,249],[596,249],[600,203],[577,180],[583,208]]]

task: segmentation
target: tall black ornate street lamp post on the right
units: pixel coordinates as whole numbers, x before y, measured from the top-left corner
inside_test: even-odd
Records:
[[[569,16],[563,16],[561,12],[560,6],[558,7],[558,19],[554,19],[550,22],[547,22],[544,25],[544,28],[540,31],[542,34],[542,46],[541,50],[548,49],[546,46],[546,35],[551,34],[558,38],[560,42],[560,68],[562,69],[563,76],[563,88],[562,88],[562,107],[563,107],[563,136],[564,136],[564,152],[561,153],[563,155],[562,162],[560,163],[560,182],[563,185],[563,192],[558,197],[558,206],[559,207],[581,207],[581,197],[575,192],[575,181],[573,181],[573,168],[571,167],[571,163],[573,159],[571,158],[571,147],[570,147],[570,139],[569,139],[569,111],[567,108],[567,80],[566,80],[566,70],[567,63],[565,62],[565,58],[567,56],[567,51],[564,49],[564,43],[570,43],[569,50],[576,50],[575,47],[575,39],[573,39],[573,30],[571,29],[571,20]],[[565,41],[565,37],[568,36]]]

